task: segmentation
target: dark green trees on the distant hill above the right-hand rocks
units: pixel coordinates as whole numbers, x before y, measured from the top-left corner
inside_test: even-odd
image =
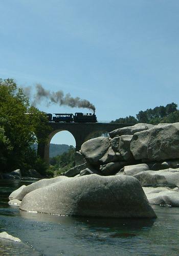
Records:
[[[111,123],[174,123],[179,121],[178,113],[179,111],[177,110],[177,104],[172,102],[167,104],[166,106],[156,106],[154,109],[140,111],[136,115],[137,118],[129,116],[116,119],[115,121],[111,121]]]

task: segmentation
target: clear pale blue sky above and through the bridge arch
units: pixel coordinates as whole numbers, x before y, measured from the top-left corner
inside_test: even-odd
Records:
[[[178,0],[1,0],[0,12],[1,78],[87,99],[99,121],[179,105]]]

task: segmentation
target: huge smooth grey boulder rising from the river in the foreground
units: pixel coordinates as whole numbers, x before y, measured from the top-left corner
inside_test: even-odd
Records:
[[[70,216],[156,217],[139,181],[131,176],[67,178],[27,194],[20,209]]]

